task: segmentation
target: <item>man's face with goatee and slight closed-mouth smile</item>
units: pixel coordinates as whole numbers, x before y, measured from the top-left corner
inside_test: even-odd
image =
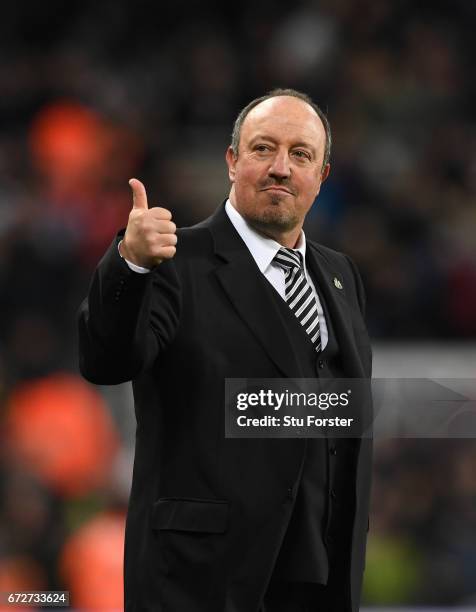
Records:
[[[261,102],[243,122],[238,156],[231,148],[226,154],[233,205],[262,233],[297,240],[329,174],[324,150],[324,126],[306,102],[291,96]]]

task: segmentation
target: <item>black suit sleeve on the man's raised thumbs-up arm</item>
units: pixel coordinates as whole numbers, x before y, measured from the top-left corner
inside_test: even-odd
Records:
[[[173,260],[138,274],[120,257],[120,239],[100,261],[79,309],[79,368],[95,384],[123,383],[149,368],[166,352],[180,317]]]

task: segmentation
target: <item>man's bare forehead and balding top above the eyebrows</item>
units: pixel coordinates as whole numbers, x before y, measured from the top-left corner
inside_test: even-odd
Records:
[[[269,98],[248,113],[241,139],[249,142],[258,135],[309,142],[316,148],[324,146],[326,137],[324,125],[312,106],[291,96]]]

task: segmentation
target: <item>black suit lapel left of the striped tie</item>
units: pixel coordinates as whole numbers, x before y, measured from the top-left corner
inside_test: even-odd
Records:
[[[295,348],[273,295],[274,289],[263,277],[224,207],[203,225],[210,230],[215,253],[221,260],[215,274],[236,312],[283,377],[302,376]]]

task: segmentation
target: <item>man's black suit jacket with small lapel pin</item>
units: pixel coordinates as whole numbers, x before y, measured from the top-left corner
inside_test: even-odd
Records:
[[[178,231],[177,253],[132,272],[113,242],[79,317],[80,368],[133,381],[136,453],[125,547],[126,610],[254,612],[289,522],[302,439],[224,436],[225,378],[300,377],[295,346],[224,207]],[[352,262],[308,241],[346,376],[369,377],[364,293]],[[341,281],[338,290],[334,278]],[[358,609],[371,446],[360,446],[352,568]]]

